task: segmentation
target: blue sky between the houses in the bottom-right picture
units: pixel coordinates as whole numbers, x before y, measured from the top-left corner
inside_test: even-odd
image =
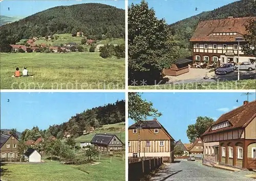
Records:
[[[189,143],[187,126],[196,123],[197,117],[207,116],[216,121],[247,100],[242,93],[143,93],[141,97],[153,103],[153,107],[162,113],[157,120],[176,141],[180,139],[183,143]],[[249,101],[253,100],[255,94],[249,95]],[[133,123],[130,119],[129,126]]]

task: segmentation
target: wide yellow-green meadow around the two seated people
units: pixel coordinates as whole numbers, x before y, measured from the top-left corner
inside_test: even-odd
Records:
[[[1,89],[123,89],[124,58],[98,52],[0,54]],[[33,78],[11,77],[27,66]]]

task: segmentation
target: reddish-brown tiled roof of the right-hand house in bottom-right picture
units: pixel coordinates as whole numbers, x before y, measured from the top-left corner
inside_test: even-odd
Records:
[[[236,109],[233,109],[226,114],[221,115],[221,117],[211,126],[217,125],[219,123],[229,121],[231,126],[224,127],[217,130],[210,130],[209,127],[203,135],[207,135],[209,133],[215,133],[223,130],[229,130],[233,128],[245,127],[249,124],[249,122],[255,118],[256,116],[256,100],[246,103]]]

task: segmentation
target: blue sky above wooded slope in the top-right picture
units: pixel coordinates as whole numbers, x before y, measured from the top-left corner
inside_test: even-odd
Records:
[[[139,4],[141,1],[129,0],[129,5]],[[211,11],[224,5],[236,2],[231,0],[148,0],[148,7],[154,8],[156,16],[165,18],[167,24],[173,24],[179,20],[197,15],[203,11]],[[197,8],[197,11],[196,11]]]

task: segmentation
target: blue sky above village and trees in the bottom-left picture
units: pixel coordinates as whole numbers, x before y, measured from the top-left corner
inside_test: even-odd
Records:
[[[122,99],[124,93],[1,93],[1,129],[47,129],[83,110]]]

